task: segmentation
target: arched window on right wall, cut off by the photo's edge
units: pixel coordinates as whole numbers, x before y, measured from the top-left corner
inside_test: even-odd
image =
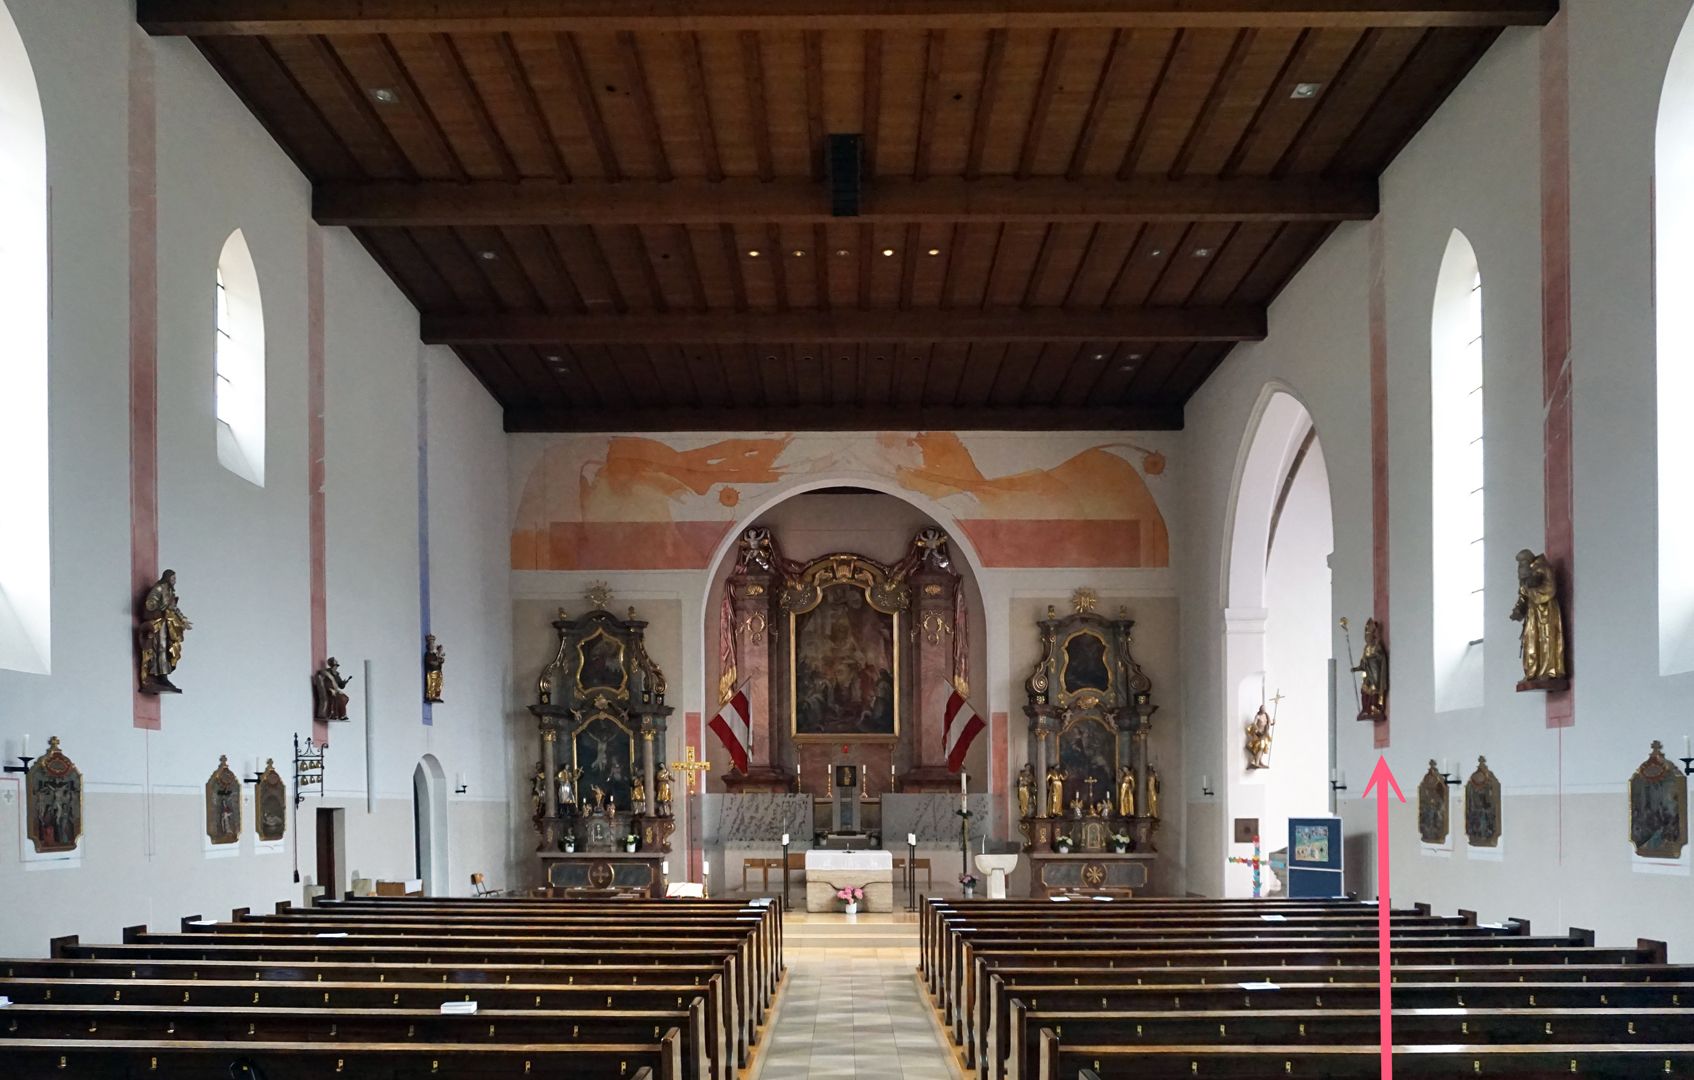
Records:
[[[1694,670],[1694,19],[1670,52],[1653,151],[1653,300],[1658,323],[1658,669]]]

